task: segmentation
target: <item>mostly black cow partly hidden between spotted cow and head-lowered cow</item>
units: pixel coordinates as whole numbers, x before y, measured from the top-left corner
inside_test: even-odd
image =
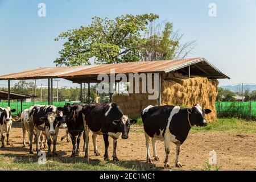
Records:
[[[65,104],[63,108],[63,114],[66,115],[65,123],[68,128],[68,133],[71,137],[72,141],[72,155],[71,157],[75,157],[80,153],[80,139],[81,135],[84,132],[84,119],[82,119],[82,106],[84,104]],[[85,142],[85,141],[84,141]]]

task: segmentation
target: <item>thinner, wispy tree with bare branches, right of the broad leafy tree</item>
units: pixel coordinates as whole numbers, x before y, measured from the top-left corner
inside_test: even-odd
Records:
[[[170,22],[150,23],[146,36],[149,46],[142,52],[142,60],[145,61],[183,59],[196,47],[195,40],[181,44],[184,34],[174,32]]]

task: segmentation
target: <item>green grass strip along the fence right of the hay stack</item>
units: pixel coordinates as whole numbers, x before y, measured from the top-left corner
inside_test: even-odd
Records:
[[[238,118],[218,119],[205,127],[193,127],[193,132],[228,131],[232,133],[256,133],[256,122]]]

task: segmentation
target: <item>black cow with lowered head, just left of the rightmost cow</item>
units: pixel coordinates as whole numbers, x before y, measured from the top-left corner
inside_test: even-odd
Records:
[[[85,105],[82,107],[82,114],[84,118],[84,126],[88,126],[89,130],[93,132],[94,153],[100,155],[97,150],[97,135],[103,135],[105,143],[104,160],[109,160],[108,147],[109,137],[111,137],[113,138],[114,148],[113,160],[116,162],[118,160],[116,152],[117,139],[121,134],[122,139],[127,139],[129,137],[130,125],[136,123],[137,120],[129,119],[114,102]],[[89,131],[86,131],[85,133],[86,137],[88,137]],[[86,142],[86,147],[88,146],[89,143]],[[85,150],[85,157],[88,157],[87,151],[88,150]]]

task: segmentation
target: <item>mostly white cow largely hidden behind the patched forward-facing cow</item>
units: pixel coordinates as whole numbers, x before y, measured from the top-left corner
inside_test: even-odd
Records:
[[[39,105],[38,105],[39,106]],[[22,133],[23,133],[23,142],[22,147],[26,147],[26,131],[29,133],[30,131],[30,123],[29,123],[29,109],[25,109],[22,111],[20,118],[16,122],[21,122],[22,125]],[[36,128],[34,128],[33,134],[36,135]],[[44,139],[44,143],[43,143]],[[36,142],[36,136],[35,136]],[[28,141],[28,146],[30,146],[30,141]],[[47,138],[44,132],[40,135],[40,149],[47,148]]]

